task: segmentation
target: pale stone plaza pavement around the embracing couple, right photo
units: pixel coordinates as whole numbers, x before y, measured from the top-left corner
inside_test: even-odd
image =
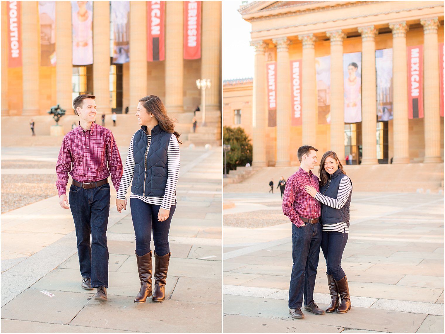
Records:
[[[281,198],[224,192],[224,208],[223,224],[228,215],[233,221],[246,212],[281,210]],[[304,319],[291,318],[287,307],[291,223],[223,225],[224,332],[444,333],[443,195],[354,192],[350,223],[342,267],[352,309],[303,310]],[[325,272],[320,251],[314,299],[321,308],[330,301]]]

